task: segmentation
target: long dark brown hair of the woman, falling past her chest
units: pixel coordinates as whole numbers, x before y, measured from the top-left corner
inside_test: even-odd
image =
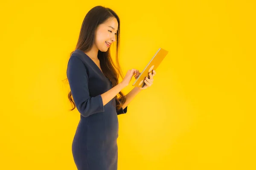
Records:
[[[110,48],[108,48],[108,51],[106,52],[102,52],[99,50],[98,58],[100,61],[100,67],[102,68],[102,72],[108,79],[110,79],[114,87],[118,84],[119,75],[121,75],[122,79],[124,79],[124,76],[120,68],[118,58],[118,49],[120,44],[120,20],[113,10],[111,10],[110,8],[105,8],[103,6],[95,6],[92,9],[90,9],[90,11],[84,17],[84,21],[82,23],[79,34],[79,39],[76,44],[76,49],[84,51],[84,53],[90,51],[90,49],[93,47],[93,43],[95,40],[96,28],[100,24],[108,20],[108,18],[110,17],[115,17],[118,22],[116,43],[113,43],[116,44],[116,65],[114,65],[113,60],[111,58]],[[71,52],[70,57],[74,51]],[[116,107],[118,110],[122,108],[122,105],[126,101],[124,94],[121,91],[119,92],[119,96],[119,98],[117,97],[117,95],[115,96],[115,99],[117,99]],[[71,91],[68,93],[68,99],[70,100],[71,105],[73,105],[73,108],[70,111],[73,111],[76,108],[76,105],[73,100]]]

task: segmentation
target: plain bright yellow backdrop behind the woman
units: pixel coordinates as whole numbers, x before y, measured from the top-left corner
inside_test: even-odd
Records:
[[[256,169],[254,0],[1,2],[0,169],[76,170],[79,112],[62,80],[97,5],[121,19],[124,74],[169,51],[118,116],[118,169]]]

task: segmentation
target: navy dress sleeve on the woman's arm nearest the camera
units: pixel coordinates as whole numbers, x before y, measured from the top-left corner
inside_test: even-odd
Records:
[[[93,113],[103,112],[102,96],[90,97],[88,75],[84,63],[76,56],[71,56],[67,65],[67,79],[77,110],[87,117]]]

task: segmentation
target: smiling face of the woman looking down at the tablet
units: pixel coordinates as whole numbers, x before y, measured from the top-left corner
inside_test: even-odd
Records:
[[[108,51],[110,45],[116,41],[116,32],[118,28],[118,22],[115,17],[111,17],[98,26],[95,32],[95,45],[102,51]]]

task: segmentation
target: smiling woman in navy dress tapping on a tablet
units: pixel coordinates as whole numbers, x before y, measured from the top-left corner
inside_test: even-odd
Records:
[[[119,34],[120,21],[113,10],[103,6],[92,8],[84,18],[76,50],[68,61],[68,97],[73,109],[77,107],[80,113],[72,143],[78,170],[117,170],[117,115],[126,113],[134,96],[153,83],[155,71],[149,74],[150,79],[145,79],[143,88],[135,87],[126,96],[122,94],[133,75],[137,79],[140,72],[128,70],[118,83],[119,74],[122,75],[117,56]],[[110,54],[113,42],[117,66]]]

